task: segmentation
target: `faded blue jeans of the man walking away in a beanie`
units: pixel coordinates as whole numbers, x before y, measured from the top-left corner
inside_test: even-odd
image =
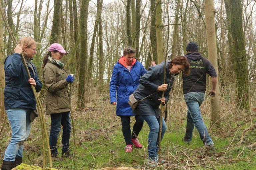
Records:
[[[199,107],[204,101],[205,93],[202,92],[190,92],[184,95],[184,99],[187,105],[187,127],[185,140],[190,142],[192,139],[192,133],[194,126],[199,132],[200,138],[204,145],[213,144],[213,141],[208,133],[208,130],[202,119]]]

